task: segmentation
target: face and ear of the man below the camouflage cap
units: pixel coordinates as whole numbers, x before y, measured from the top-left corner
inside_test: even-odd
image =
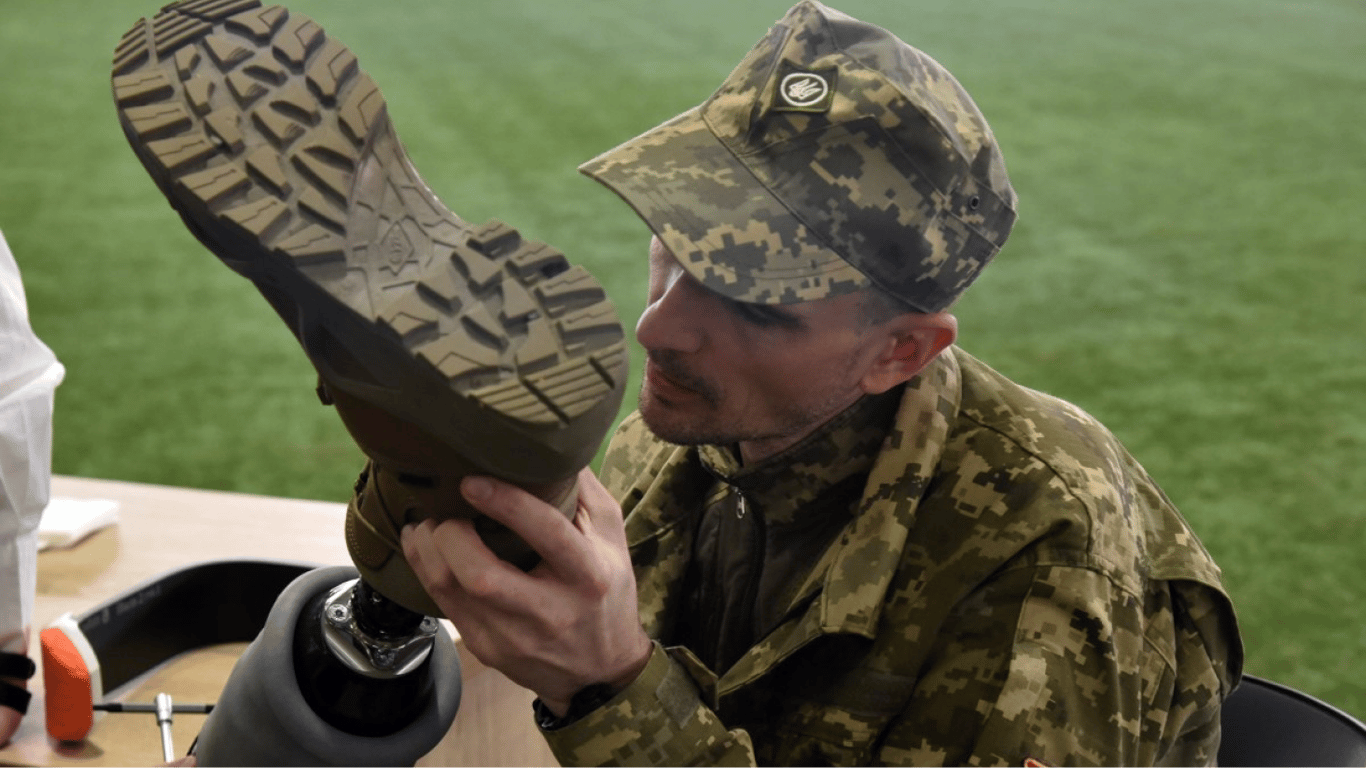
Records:
[[[880,351],[862,297],[764,306],[702,287],[654,238],[641,415],[679,444],[740,443],[753,461],[796,443],[854,403]]]

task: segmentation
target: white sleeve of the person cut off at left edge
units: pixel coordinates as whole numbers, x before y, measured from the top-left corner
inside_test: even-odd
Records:
[[[0,650],[33,616],[38,519],[52,484],[53,391],[66,369],[33,333],[19,265],[0,234]]]

